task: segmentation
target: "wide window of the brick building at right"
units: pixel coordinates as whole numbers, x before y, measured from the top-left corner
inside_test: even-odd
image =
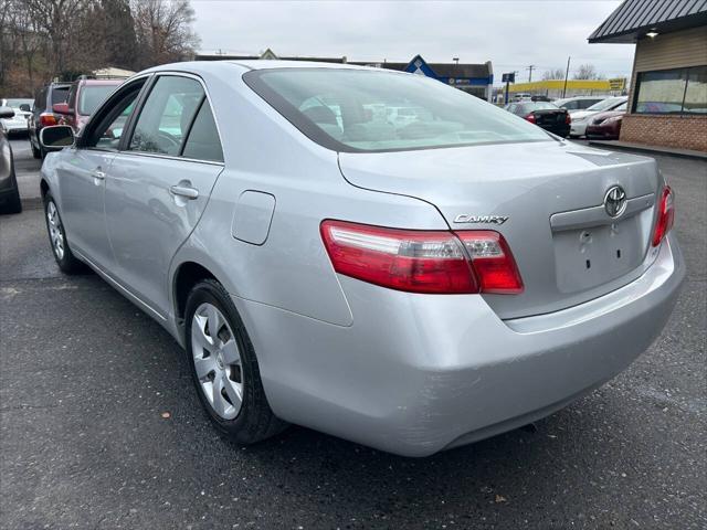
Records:
[[[641,72],[634,114],[707,114],[707,66]]]

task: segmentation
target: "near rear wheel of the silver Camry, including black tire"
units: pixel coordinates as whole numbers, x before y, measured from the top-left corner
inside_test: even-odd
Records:
[[[253,344],[221,284],[204,279],[191,289],[184,322],[187,362],[199,400],[215,427],[243,445],[284,431],[287,424],[267,403]],[[211,337],[212,322],[219,329],[217,340]],[[214,396],[217,384],[219,393]]]

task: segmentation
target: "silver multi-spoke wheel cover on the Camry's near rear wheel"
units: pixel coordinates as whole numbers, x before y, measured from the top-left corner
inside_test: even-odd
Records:
[[[203,303],[191,320],[194,369],[207,401],[220,417],[233,420],[243,403],[241,352],[223,314]]]

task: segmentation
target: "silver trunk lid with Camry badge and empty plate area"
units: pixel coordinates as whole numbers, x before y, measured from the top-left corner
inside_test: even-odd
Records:
[[[354,186],[432,203],[453,230],[500,232],[525,284],[520,295],[483,295],[504,319],[602,296],[655,257],[648,251],[662,178],[650,158],[548,141],[341,152],[339,165]],[[604,208],[614,186],[627,198],[616,219]]]

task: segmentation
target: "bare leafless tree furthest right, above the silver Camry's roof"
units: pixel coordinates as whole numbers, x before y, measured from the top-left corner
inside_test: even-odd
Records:
[[[199,45],[189,0],[133,0],[133,18],[141,68],[183,61]]]

